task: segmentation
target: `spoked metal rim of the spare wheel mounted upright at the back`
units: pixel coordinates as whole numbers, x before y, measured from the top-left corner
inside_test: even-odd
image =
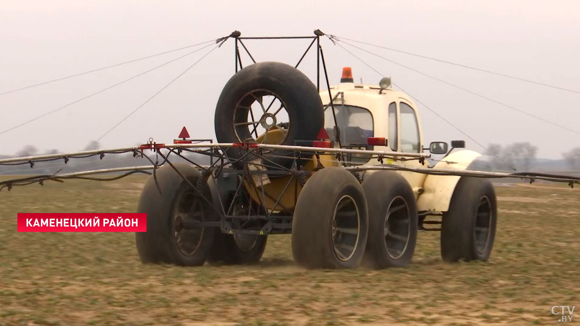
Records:
[[[269,103],[264,105],[265,103]],[[247,141],[247,133],[253,140],[262,137],[261,143],[284,143],[290,130],[291,120],[284,101],[273,92],[265,89],[256,89],[242,96],[234,108],[233,119],[235,136],[238,141]],[[285,133],[282,140],[268,142],[267,131],[278,129]]]

